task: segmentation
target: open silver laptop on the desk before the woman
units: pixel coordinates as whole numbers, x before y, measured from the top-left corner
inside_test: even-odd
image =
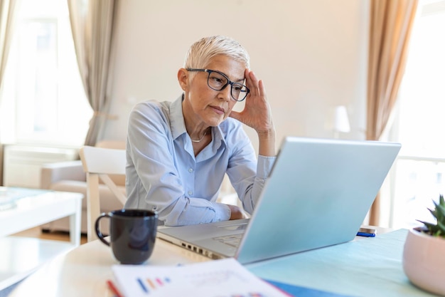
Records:
[[[401,145],[286,137],[250,219],[163,227],[159,239],[241,264],[355,238]]]

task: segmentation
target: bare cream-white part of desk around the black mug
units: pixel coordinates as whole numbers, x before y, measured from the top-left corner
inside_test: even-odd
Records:
[[[156,239],[147,264],[177,265],[199,261],[210,259]],[[50,261],[28,276],[10,296],[34,296],[36,292],[45,297],[113,296],[106,281],[112,278],[114,264],[119,262],[112,256],[111,249],[99,240],[91,241]]]

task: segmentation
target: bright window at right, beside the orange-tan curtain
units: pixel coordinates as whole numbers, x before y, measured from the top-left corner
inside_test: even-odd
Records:
[[[392,140],[402,143],[393,170],[390,226],[433,222],[427,207],[445,194],[445,1],[419,1]]]

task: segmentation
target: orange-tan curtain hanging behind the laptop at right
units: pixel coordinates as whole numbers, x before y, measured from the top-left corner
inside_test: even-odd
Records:
[[[370,1],[368,58],[368,140],[379,140],[397,99],[404,73],[417,0]],[[380,221],[380,196],[370,209],[371,225]]]

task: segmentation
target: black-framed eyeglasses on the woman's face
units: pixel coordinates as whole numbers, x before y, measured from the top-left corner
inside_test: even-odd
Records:
[[[209,88],[213,90],[223,90],[225,87],[227,87],[227,85],[230,85],[230,95],[232,95],[232,98],[238,102],[245,100],[247,94],[250,92],[249,88],[247,88],[245,85],[242,83],[232,82],[232,80],[227,78],[227,75],[221,73],[220,71],[195,68],[187,68],[187,71],[207,72],[207,84]]]

